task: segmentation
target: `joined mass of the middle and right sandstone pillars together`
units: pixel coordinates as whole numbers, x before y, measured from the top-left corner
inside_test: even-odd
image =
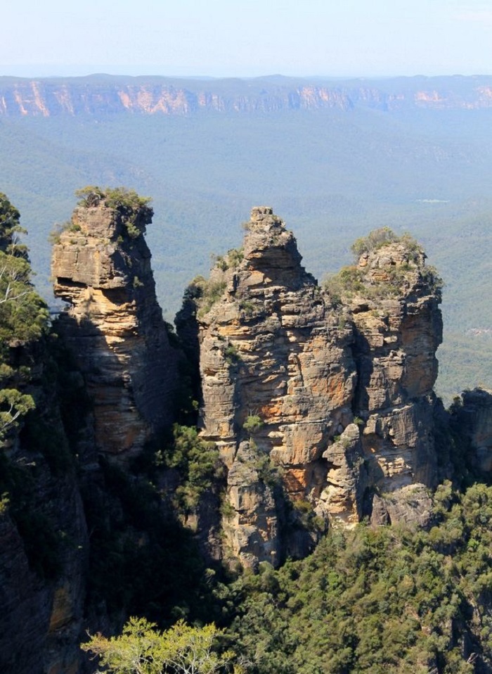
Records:
[[[366,253],[340,300],[306,274],[271,208],[246,229],[177,321],[198,333],[202,435],[229,471],[228,551],[278,564],[328,523],[425,520],[441,315],[422,251]]]

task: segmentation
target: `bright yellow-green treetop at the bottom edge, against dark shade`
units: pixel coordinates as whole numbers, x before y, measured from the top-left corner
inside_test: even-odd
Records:
[[[223,633],[213,623],[196,628],[184,621],[160,632],[145,618],[130,618],[121,635],[93,635],[82,650],[98,656],[112,674],[219,674],[230,671],[234,656],[216,651]]]

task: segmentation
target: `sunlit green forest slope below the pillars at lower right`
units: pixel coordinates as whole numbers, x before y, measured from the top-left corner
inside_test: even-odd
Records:
[[[296,507],[309,516],[309,504]],[[332,529],[311,557],[242,576],[231,640],[252,672],[472,673],[474,658],[488,663],[492,488],[460,496],[442,485],[434,522],[428,532]]]

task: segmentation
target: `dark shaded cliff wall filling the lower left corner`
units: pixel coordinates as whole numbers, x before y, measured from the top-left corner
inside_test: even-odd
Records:
[[[35,364],[37,409],[1,447],[8,507],[0,509],[0,671],[75,674],[89,566],[79,475],[46,343],[17,355],[20,364]]]

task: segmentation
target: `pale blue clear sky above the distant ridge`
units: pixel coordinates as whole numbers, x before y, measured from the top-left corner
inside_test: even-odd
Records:
[[[0,75],[491,75],[490,0],[18,0]]]

